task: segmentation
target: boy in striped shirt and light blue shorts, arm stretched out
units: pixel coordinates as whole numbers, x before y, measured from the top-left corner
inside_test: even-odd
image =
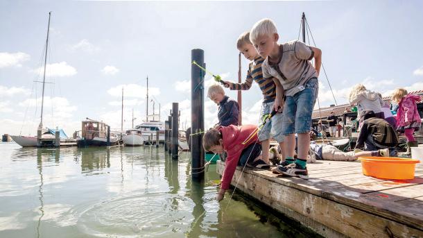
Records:
[[[248,65],[247,78],[244,83],[232,83],[225,81],[225,87],[229,87],[230,90],[250,90],[252,81],[254,80],[259,84],[261,93],[263,94],[263,104],[261,105],[260,112],[260,124],[262,123],[263,116],[272,112],[273,103],[279,101],[279,105],[282,105],[284,90],[279,80],[265,79],[261,71],[261,63],[264,58],[259,56],[259,53],[254,49],[254,46],[250,42],[250,33],[242,33],[237,42],[236,48],[241,51],[243,56],[248,60],[251,60]],[[278,94],[276,93],[278,91]],[[259,142],[261,142],[261,151],[263,160],[269,163],[269,148],[270,148],[270,134],[279,143],[282,149],[282,157],[284,156],[284,135],[282,134],[282,113],[277,113],[270,119],[270,121],[261,128],[259,131]]]

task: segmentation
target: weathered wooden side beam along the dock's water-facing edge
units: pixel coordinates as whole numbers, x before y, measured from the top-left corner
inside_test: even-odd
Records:
[[[390,221],[278,182],[270,182],[254,173],[241,175],[241,171],[237,170],[234,177],[240,178],[238,189],[259,201],[279,211],[288,207],[347,237],[387,237],[384,231],[386,227],[397,237],[423,236],[423,230],[410,228],[397,221]]]

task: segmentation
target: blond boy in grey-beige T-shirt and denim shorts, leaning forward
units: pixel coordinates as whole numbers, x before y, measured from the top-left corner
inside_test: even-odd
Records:
[[[287,176],[309,178],[307,154],[309,152],[311,113],[318,95],[318,74],[322,62],[322,51],[297,40],[278,44],[279,35],[275,23],[261,19],[252,26],[250,41],[260,56],[265,58],[261,68],[263,78],[277,78],[284,88],[286,100],[282,119],[285,135],[286,160],[292,164],[273,169]],[[314,67],[310,60],[314,58]],[[275,101],[278,108],[279,101]],[[295,133],[298,135],[298,156],[295,152]]]

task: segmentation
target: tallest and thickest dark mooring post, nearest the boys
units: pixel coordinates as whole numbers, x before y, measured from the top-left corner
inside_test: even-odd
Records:
[[[191,62],[205,67],[204,51],[193,49]],[[204,180],[205,153],[202,148],[202,135],[204,132],[204,76],[203,71],[191,63],[191,177],[193,180]]]

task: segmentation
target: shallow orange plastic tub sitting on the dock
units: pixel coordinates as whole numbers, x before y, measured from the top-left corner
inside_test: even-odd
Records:
[[[385,179],[413,179],[419,160],[396,157],[360,157],[365,176]]]

